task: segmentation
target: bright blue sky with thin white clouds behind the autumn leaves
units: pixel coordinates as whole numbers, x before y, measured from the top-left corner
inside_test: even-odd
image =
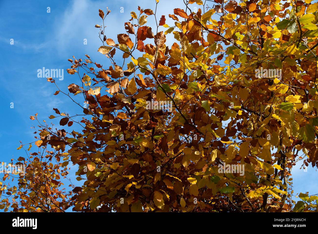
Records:
[[[0,105],[3,113],[0,161],[10,162],[11,158],[25,155],[24,151],[16,148],[20,140],[23,143],[34,141],[34,129],[31,127],[37,124],[29,116],[38,113],[40,121],[51,122],[48,116],[55,114],[53,107],[69,114],[81,112],[65,96],[54,96],[57,89],[45,78],[38,78],[37,70],[42,67],[64,69],[64,80],[56,80],[67,93],[67,86],[78,81],[78,77],[66,72],[70,67],[67,59],[72,59],[73,55],[85,59],[84,55],[88,54],[104,68],[109,67],[109,60],[97,52],[101,46],[99,30],[94,28],[95,24],[101,24],[98,9],[106,12],[108,6],[112,11],[106,18],[105,34],[115,40],[118,33],[125,32],[124,22],[128,22],[130,11],[137,11],[138,5],[143,9],[154,9],[155,0],[35,0],[15,3],[0,0],[0,50],[3,58],[0,65]],[[47,7],[50,7],[51,13],[47,13]],[[121,7],[123,13],[120,12]],[[160,0],[158,4],[158,15],[166,15],[168,25],[168,14],[173,14],[174,8],[183,8],[183,1]],[[14,39],[13,45],[10,45],[10,39]],[[87,45],[84,45],[84,39],[87,39]],[[172,41],[171,35],[167,37],[168,44],[169,41]],[[14,103],[13,109],[10,108],[11,102]],[[53,119],[57,126],[58,121]],[[316,194],[317,171],[310,166],[304,172],[299,170],[300,166],[298,163],[292,172],[294,195],[307,191],[309,195]]]

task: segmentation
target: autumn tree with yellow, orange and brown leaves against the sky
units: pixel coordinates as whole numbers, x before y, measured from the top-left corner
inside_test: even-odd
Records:
[[[77,103],[81,114],[54,109],[49,118],[82,131],[38,121],[38,150],[19,158],[27,167],[18,187],[3,177],[1,208],[316,211],[317,196],[300,194],[295,204],[290,176],[299,160],[318,167],[318,4],[203,2],[184,0],[170,25],[138,7],[117,39],[105,35],[110,10],[99,10],[107,65],[73,56],[67,72],[80,82],[69,93],[48,79],[54,95],[87,103]],[[192,12],[191,4],[201,7]],[[83,186],[67,192],[69,163]]]

